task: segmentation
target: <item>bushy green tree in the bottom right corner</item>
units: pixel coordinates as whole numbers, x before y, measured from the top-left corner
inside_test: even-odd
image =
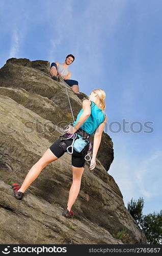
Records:
[[[144,215],[140,226],[149,244],[162,244],[162,210]]]

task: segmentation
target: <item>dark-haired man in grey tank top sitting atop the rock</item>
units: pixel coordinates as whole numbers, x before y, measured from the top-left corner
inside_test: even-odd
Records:
[[[75,57],[72,54],[67,55],[63,64],[58,61],[52,62],[50,65],[51,78],[59,81],[58,76],[61,77],[69,86],[72,91],[77,95],[79,99],[83,99],[84,96],[80,94],[78,81],[71,80],[71,72],[68,70],[68,66],[74,61]]]

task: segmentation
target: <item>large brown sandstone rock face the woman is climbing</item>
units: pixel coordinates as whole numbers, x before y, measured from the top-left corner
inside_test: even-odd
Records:
[[[76,118],[82,101],[68,85],[67,89]],[[72,220],[62,216],[72,183],[67,153],[42,170],[22,200],[14,198],[11,183],[22,184],[29,169],[72,122],[65,83],[50,78],[48,61],[7,60],[0,70],[0,102],[1,244],[122,244],[114,234],[123,228],[130,243],[147,242],[107,173],[114,151],[104,132],[96,168],[90,170],[86,163]]]

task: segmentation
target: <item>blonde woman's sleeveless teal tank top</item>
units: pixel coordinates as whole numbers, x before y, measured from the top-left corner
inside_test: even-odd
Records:
[[[83,113],[83,108],[80,110],[76,117],[76,121],[74,121],[73,126],[77,123],[80,115]],[[79,127],[80,129],[83,129],[90,135],[92,135],[97,127],[104,121],[105,114],[102,112],[98,106],[91,101],[91,115],[87,118],[87,120]]]

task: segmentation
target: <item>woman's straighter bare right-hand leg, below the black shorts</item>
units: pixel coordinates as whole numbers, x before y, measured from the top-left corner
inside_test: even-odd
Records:
[[[72,166],[72,185],[69,191],[69,199],[67,203],[69,211],[71,210],[71,207],[74,204],[79,194],[83,172],[84,172],[84,167]]]

